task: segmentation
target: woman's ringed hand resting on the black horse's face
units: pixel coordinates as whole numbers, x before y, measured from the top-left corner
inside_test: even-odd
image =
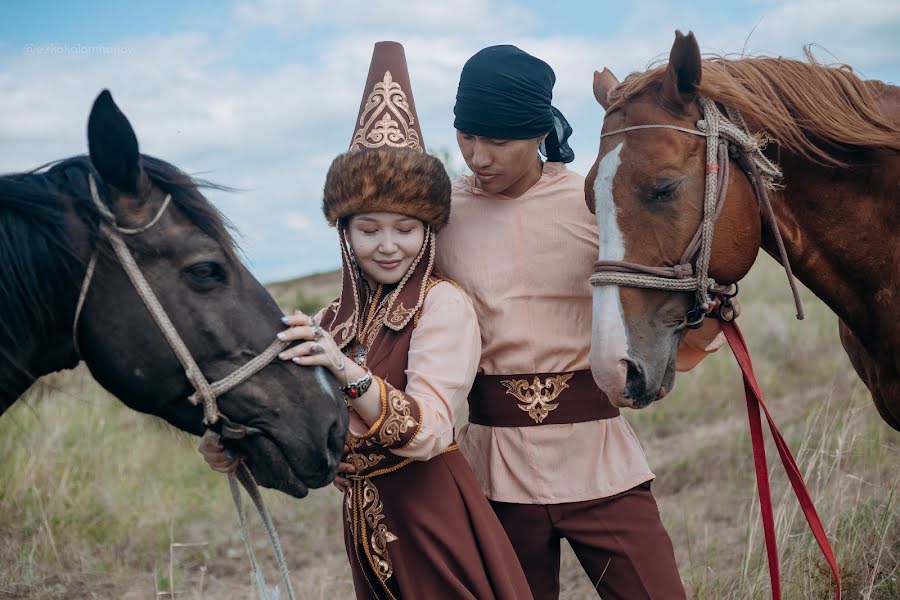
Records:
[[[279,354],[281,360],[291,360],[305,367],[321,365],[341,383],[356,381],[365,375],[365,369],[352,360],[346,360],[331,333],[316,323],[313,317],[297,311],[281,321],[288,328],[278,334],[278,339],[301,342]]]

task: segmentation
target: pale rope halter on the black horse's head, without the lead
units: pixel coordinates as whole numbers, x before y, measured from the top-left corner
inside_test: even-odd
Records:
[[[132,285],[134,285],[138,296],[141,297],[141,300],[144,302],[144,305],[147,307],[153,320],[156,321],[156,324],[165,336],[169,346],[178,357],[178,361],[181,363],[182,367],[184,367],[185,376],[195,390],[194,393],[188,397],[188,400],[194,406],[201,401],[203,402],[203,424],[207,428],[217,431],[222,437],[227,439],[240,439],[247,435],[261,433],[260,430],[255,427],[233,423],[228,417],[219,412],[216,398],[243,383],[263,369],[263,367],[271,363],[287,344],[276,339],[268,348],[263,350],[262,353],[236,369],[230,375],[210,383],[206,379],[206,376],[203,375],[203,372],[197,365],[197,361],[194,360],[190,350],[188,350],[184,341],[181,339],[181,336],[172,324],[172,320],[162,307],[162,304],[160,304],[159,299],[156,297],[150,284],[147,283],[147,279],[144,277],[140,267],[138,267],[137,262],[134,260],[134,256],[131,254],[131,251],[128,249],[128,246],[125,245],[125,241],[122,238],[123,235],[137,235],[143,233],[156,225],[171,204],[172,195],[169,194],[166,196],[159,211],[157,211],[156,215],[146,225],[135,229],[128,229],[120,227],[116,223],[115,215],[109,210],[106,204],[100,200],[100,195],[97,192],[97,184],[94,181],[93,175],[88,175],[88,185],[91,190],[91,199],[94,201],[94,205],[97,207],[97,210],[102,217],[99,225],[100,233],[109,241],[125,274],[128,275],[128,279],[130,279]],[[78,304],[75,307],[75,319],[72,324],[72,339],[75,344],[75,352],[79,358],[81,357],[81,350],[78,346],[78,322],[97,266],[97,255],[98,250],[95,248],[91,254],[91,259],[88,262],[84,281],[81,284],[81,293],[78,296]]]

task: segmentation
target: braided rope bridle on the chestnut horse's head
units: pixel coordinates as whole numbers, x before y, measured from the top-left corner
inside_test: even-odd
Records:
[[[720,285],[709,277],[709,262],[712,253],[713,232],[716,220],[728,195],[728,170],[730,159],[747,174],[759,204],[760,212],[775,237],[781,264],[788,277],[797,318],[803,318],[803,307],[797,291],[794,274],[788,262],[787,251],[781,239],[781,232],[775,221],[775,214],[767,193],[767,179],[781,177],[781,171],[762,153],[759,142],[748,132],[741,114],[726,106],[726,118],[716,103],[700,97],[701,119],[697,129],[679,125],[652,124],[633,125],[600,134],[601,138],[642,129],[673,129],[706,138],[706,182],[703,198],[703,217],[697,232],[688,244],[678,264],[673,267],[650,267],[618,260],[598,260],[594,263],[590,283],[593,286],[620,285],[647,289],[696,292],[696,302],[685,316],[683,325],[699,327],[713,306],[713,298],[723,298],[719,316],[724,317],[722,307],[730,307],[730,299],[737,294],[737,283]],[[603,232],[600,232],[603,235]],[[734,291],[731,291],[731,290]]]

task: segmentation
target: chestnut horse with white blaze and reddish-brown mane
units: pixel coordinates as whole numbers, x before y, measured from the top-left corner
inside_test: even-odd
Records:
[[[884,420],[900,429],[900,88],[811,57],[701,60],[693,34],[679,32],[668,65],[621,84],[604,69],[594,95],[609,132],[585,184],[600,260],[679,264],[715,171],[703,137],[656,126],[696,130],[700,98],[737,109],[750,132],[773,141],[765,156],[783,174],[771,198],[790,265],[838,316],[854,368]],[[619,132],[635,126],[654,127]],[[728,183],[709,266],[723,284],[747,273],[758,248],[779,256],[748,176],[731,168]],[[672,389],[692,296],[595,289],[591,366],[614,402],[643,407]]]

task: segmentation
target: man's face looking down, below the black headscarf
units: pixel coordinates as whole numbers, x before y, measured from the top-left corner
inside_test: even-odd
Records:
[[[492,194],[516,198],[534,184],[528,175],[539,172],[538,146],[546,136],[528,140],[498,140],[457,130],[456,142],[478,187]],[[524,188],[524,189],[519,189]]]

